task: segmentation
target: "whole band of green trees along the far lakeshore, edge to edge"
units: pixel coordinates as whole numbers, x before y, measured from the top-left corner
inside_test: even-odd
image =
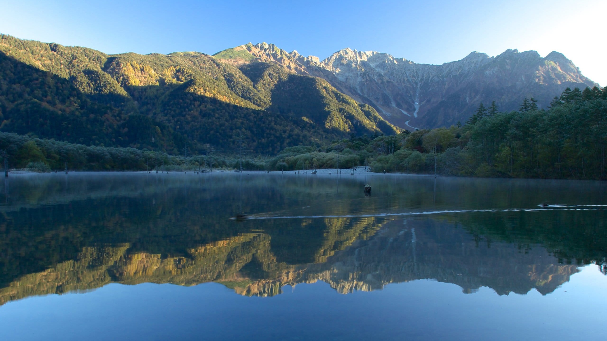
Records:
[[[9,168],[30,170],[300,170],[368,166],[373,172],[464,177],[605,180],[607,90],[566,89],[548,110],[533,98],[518,111],[495,103],[464,125],[396,135],[356,136],[315,146],[293,146],[274,157],[246,153],[246,137],[231,153],[214,149],[178,154],[135,148],[86,146],[0,132]],[[240,152],[238,152],[240,150]],[[241,163],[242,162],[242,163]],[[242,164],[242,166],[241,166]]]

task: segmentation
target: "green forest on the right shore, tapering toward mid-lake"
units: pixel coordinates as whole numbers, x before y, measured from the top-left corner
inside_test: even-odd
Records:
[[[351,137],[322,147],[291,147],[276,169],[370,166],[374,172],[467,177],[607,180],[607,89],[566,89],[548,110],[534,98],[500,112],[480,104],[464,126],[393,136]]]

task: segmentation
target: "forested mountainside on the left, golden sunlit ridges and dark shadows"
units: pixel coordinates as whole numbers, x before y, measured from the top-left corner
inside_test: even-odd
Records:
[[[204,53],[106,55],[0,35],[0,130],[170,154],[274,154],[398,129],[322,79]]]

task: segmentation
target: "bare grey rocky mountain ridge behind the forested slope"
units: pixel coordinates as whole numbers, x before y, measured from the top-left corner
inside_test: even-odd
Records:
[[[472,52],[442,65],[416,64],[375,51],[339,50],[320,61],[273,44],[251,43],[251,61],[273,62],[291,72],[326,79],[337,90],[369,104],[390,123],[412,130],[464,122],[480,103],[500,111],[516,110],[523,98],[540,107],[566,87],[597,86],[558,52],[541,58],[535,51],[506,50],[490,57]],[[218,53],[218,55],[220,55]]]

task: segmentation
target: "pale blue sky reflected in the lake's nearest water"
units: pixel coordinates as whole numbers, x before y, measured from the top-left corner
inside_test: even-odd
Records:
[[[194,287],[107,285],[0,308],[6,340],[603,340],[607,281],[595,265],[548,295],[473,295],[417,280],[382,291],[335,294],[297,285],[270,299]],[[592,292],[592,294],[588,294]]]

